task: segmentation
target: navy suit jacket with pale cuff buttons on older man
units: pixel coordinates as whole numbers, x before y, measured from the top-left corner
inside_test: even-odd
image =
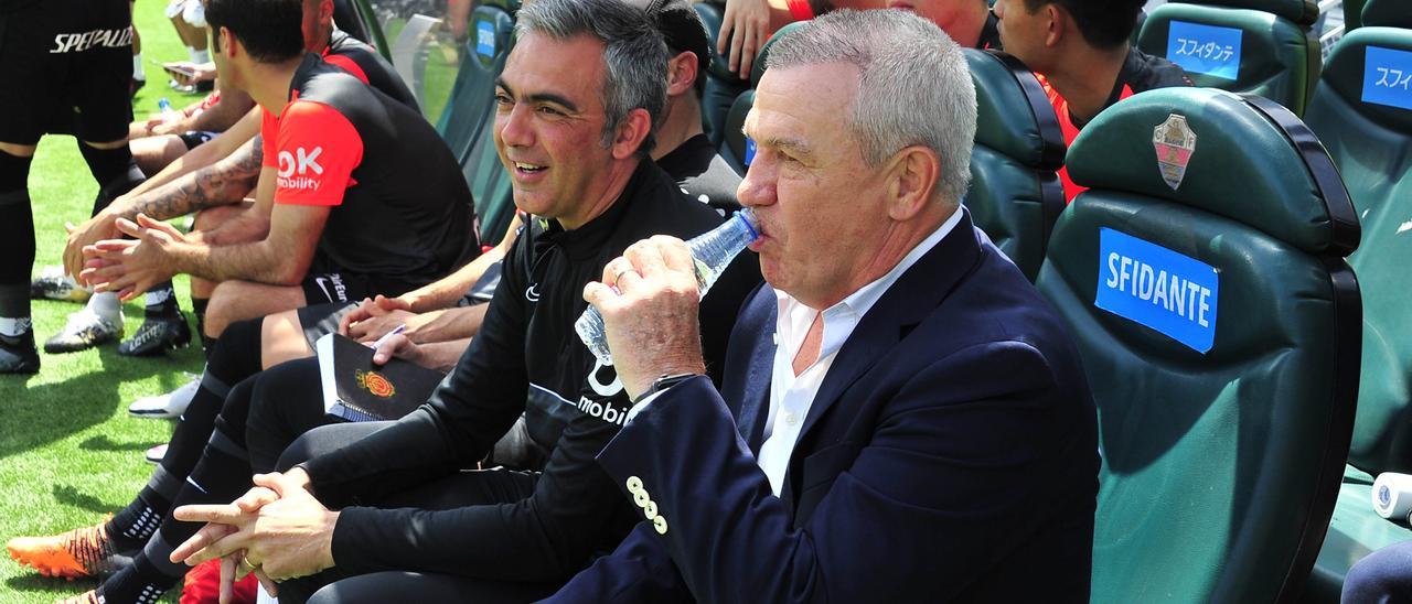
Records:
[[[777,309],[768,285],[747,299],[720,392],[681,382],[602,452],[664,521],[552,600],[1089,600],[1093,398],[1058,315],[969,216],[844,342],[779,497],[755,463]]]

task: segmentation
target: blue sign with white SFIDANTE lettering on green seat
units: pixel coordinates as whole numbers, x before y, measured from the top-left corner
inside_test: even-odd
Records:
[[[1206,353],[1216,342],[1219,296],[1216,268],[1113,229],[1099,230],[1094,306]]]

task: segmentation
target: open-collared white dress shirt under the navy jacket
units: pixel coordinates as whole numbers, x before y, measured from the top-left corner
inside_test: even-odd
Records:
[[[795,442],[799,439],[799,430],[803,428],[805,418],[809,416],[813,398],[819,394],[819,387],[823,384],[829,367],[833,366],[833,358],[837,356],[839,349],[853,334],[853,329],[857,327],[858,320],[882,298],[882,294],[908,268],[916,264],[923,254],[932,251],[960,222],[962,209],[957,207],[952,213],[952,217],[946,219],[932,234],[926,236],[916,247],[908,251],[891,271],[858,288],[842,302],[825,309],[819,358],[799,375],[794,374],[794,358],[799,353],[799,347],[803,346],[803,339],[809,333],[809,326],[813,323],[813,316],[818,310],[805,306],[785,292],[775,291],[775,296],[779,299],[779,312],[775,318],[775,358],[774,373],[770,380],[770,413],[765,416],[765,442],[760,446],[760,456],[755,463],[764,470],[765,477],[770,480],[770,490],[777,497],[779,495],[779,487],[784,484],[785,470],[789,467],[789,456],[794,453]],[[633,405],[633,409],[628,411],[627,422],[631,422],[633,418],[645,411],[647,405],[657,399],[659,394],[662,392],[655,392],[637,405]]]

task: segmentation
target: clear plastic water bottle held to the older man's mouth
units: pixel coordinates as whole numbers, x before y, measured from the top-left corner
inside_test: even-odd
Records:
[[[696,285],[700,295],[716,284],[720,274],[726,271],[730,261],[740,254],[746,246],[760,237],[760,227],[755,215],[748,207],[731,215],[722,226],[692,237],[686,247],[692,251],[696,264]],[[609,337],[603,327],[603,315],[593,305],[589,305],[573,323],[573,330],[579,332],[583,346],[587,346],[594,357],[606,366],[613,364],[613,354],[609,351]]]

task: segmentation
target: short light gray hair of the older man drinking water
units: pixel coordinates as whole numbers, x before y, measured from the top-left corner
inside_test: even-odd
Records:
[[[929,147],[942,162],[938,192],[959,202],[976,138],[976,87],[960,47],[912,13],[837,10],[777,41],[765,66],[834,62],[860,72],[846,124],[863,161],[878,168],[904,147]]]

